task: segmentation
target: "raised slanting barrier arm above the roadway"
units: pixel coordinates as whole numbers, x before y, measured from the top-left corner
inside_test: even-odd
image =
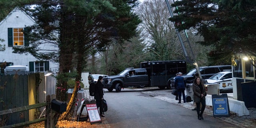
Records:
[[[168,10],[169,10],[169,12],[170,12],[171,17],[173,17],[173,13],[172,13],[172,10],[171,10],[169,1],[168,1],[168,0],[165,0],[165,2],[166,2],[166,4],[167,4],[167,8],[168,8]],[[173,0],[173,2],[174,2],[174,0]],[[181,22],[180,24],[182,25],[182,22]],[[197,62],[196,62],[196,57],[195,57],[195,55],[194,55],[194,53],[193,53],[193,50],[192,50],[191,45],[190,45],[190,42],[189,42],[189,40],[188,40],[188,34],[187,34],[186,30],[184,30],[184,33],[186,34],[186,38],[185,38],[185,41],[184,41],[184,42],[187,42],[187,43],[188,43],[188,45],[189,45],[189,47],[190,47],[190,51],[191,51],[192,56],[193,56],[193,58],[194,58],[194,62],[193,62],[192,60],[190,60],[190,58],[188,57],[188,53],[187,53],[186,48],[185,48],[185,46],[184,46],[184,42],[183,42],[183,40],[182,40],[182,36],[180,35],[180,32],[178,31],[177,28],[175,28],[175,30],[176,30],[176,32],[177,32],[177,34],[178,34],[178,38],[179,38],[179,40],[180,40],[180,44],[181,44],[182,49],[183,49],[183,51],[184,51],[184,54],[185,54],[185,57],[186,57],[187,62],[190,63],[190,64],[194,64],[194,65],[196,66],[196,72],[198,72],[199,77],[202,79],[202,76],[201,76],[201,73],[200,73],[198,64],[197,64]]]

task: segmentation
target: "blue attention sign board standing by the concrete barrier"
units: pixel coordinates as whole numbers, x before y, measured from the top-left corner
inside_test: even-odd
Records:
[[[228,95],[212,95],[212,110],[213,117],[230,116],[230,110],[228,105]]]

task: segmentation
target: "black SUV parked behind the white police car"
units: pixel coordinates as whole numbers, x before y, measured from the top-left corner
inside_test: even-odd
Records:
[[[211,76],[213,76],[214,74],[216,74],[218,72],[232,71],[232,67],[231,67],[231,65],[204,66],[204,67],[199,67],[199,70],[200,70],[202,78],[205,80],[205,79],[210,78]],[[190,83],[194,82],[195,74],[196,74],[196,68],[194,68],[194,69],[190,70],[188,73],[182,75],[182,77],[184,77],[184,79],[186,80],[186,84],[190,84]],[[174,88],[174,79],[175,79],[175,76],[170,78],[172,88]]]

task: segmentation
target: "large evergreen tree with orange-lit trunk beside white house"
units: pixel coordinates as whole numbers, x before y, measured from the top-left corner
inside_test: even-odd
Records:
[[[14,48],[14,53],[30,53],[38,60],[59,62],[57,93],[59,100],[65,100],[68,72],[77,72],[74,92],[68,103],[66,117],[74,106],[81,80],[85,58],[90,50],[103,50],[112,40],[123,43],[136,33],[140,23],[132,13],[137,0],[48,0],[24,9],[36,18],[36,24],[28,26],[30,46]],[[56,47],[45,51],[38,44]]]

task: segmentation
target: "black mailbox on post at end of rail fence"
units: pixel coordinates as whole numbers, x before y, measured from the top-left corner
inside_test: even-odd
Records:
[[[62,102],[60,100],[53,99],[51,102],[51,108],[52,108],[52,110],[54,110],[56,112],[62,113],[62,112],[66,112],[67,104],[66,104],[66,102]]]

